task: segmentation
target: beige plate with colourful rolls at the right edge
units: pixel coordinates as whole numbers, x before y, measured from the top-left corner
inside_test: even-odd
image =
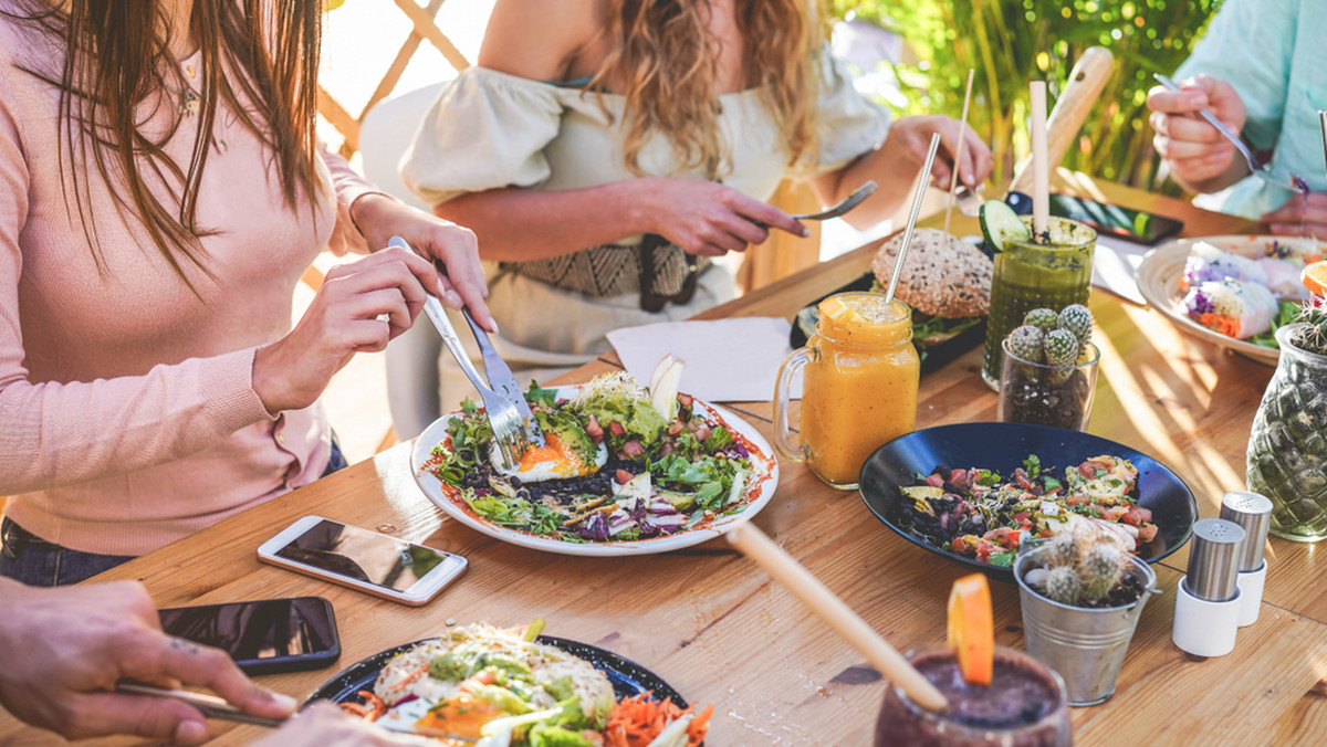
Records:
[[[1312,238],[1178,239],[1143,257],[1139,291],[1184,332],[1275,365],[1274,333],[1307,297],[1299,272],[1324,256]]]

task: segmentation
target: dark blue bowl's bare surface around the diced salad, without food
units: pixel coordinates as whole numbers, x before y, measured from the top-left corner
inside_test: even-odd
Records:
[[[902,523],[900,487],[917,484],[917,475],[929,475],[937,464],[950,468],[982,467],[1009,476],[1030,454],[1044,467],[1063,470],[1101,454],[1121,456],[1139,470],[1139,506],[1152,511],[1157,536],[1151,552],[1141,556],[1156,563],[1189,541],[1198,519],[1198,503],[1189,486],[1169,467],[1152,456],[1101,437],[1074,430],[1026,423],[955,423],[901,435],[876,450],[861,467],[861,499],[867,508],[908,541],[971,565],[995,577],[1013,581],[1009,568],[953,555],[914,535]],[[1145,551],[1147,552],[1147,551]]]

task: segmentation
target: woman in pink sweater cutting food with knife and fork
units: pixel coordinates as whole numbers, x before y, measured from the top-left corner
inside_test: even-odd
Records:
[[[316,403],[474,235],[314,139],[321,0],[0,0],[0,573],[66,584],[309,483]],[[403,236],[333,268],[320,251]],[[446,267],[446,276],[430,260]]]

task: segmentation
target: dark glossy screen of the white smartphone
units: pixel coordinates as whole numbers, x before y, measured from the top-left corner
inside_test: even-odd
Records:
[[[326,519],[276,551],[276,556],[398,592],[447,559],[447,553],[433,548]]]

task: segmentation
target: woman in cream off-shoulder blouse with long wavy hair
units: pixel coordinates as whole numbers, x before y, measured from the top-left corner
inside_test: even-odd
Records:
[[[965,183],[986,179],[975,138],[954,157],[955,121],[890,123],[857,94],[824,27],[808,0],[498,0],[479,64],[443,89],[402,176],[498,263],[495,342],[518,375],[730,300],[710,257],[805,234],[764,203],[787,175],[827,204],[874,179],[851,215],[863,226],[904,203],[933,131],[933,179],[955,161]],[[470,393],[449,364],[445,410]]]

